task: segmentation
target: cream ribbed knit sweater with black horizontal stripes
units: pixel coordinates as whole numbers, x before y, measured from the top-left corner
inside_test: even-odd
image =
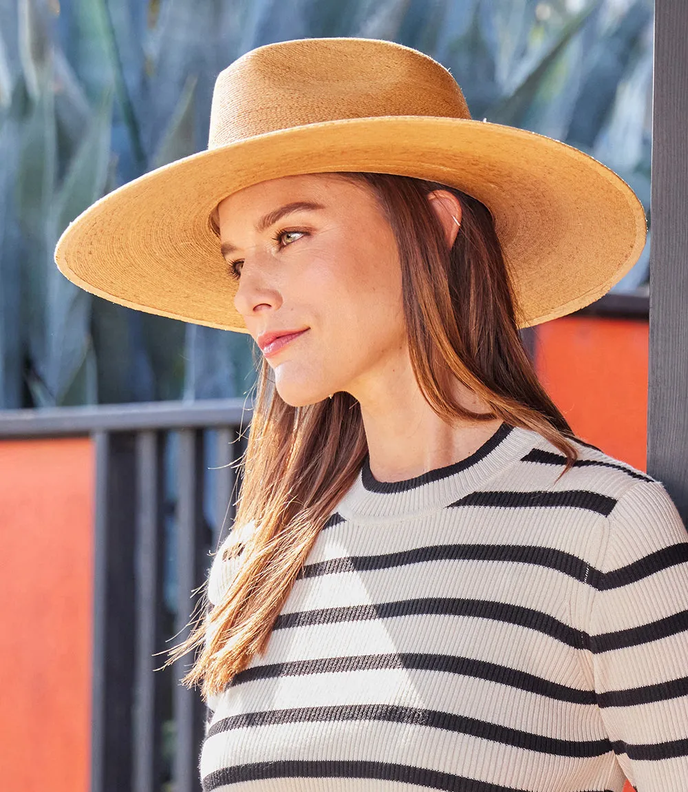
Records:
[[[508,425],[405,482],[366,460],[209,701],[204,790],[685,792],[688,534],[663,485],[579,447],[558,481]]]

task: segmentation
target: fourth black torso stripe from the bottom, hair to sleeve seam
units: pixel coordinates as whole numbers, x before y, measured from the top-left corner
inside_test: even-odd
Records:
[[[588,648],[590,644],[588,634],[581,630],[576,630],[568,624],[554,619],[554,616],[542,613],[542,611],[491,600],[467,600],[453,597],[422,597],[414,600],[323,607],[312,611],[283,613],[275,620],[274,630],[312,624],[393,619],[398,616],[418,614],[471,616],[475,619],[490,619],[537,630],[576,649]]]

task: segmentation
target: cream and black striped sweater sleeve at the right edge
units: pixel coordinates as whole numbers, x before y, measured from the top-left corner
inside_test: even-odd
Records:
[[[608,527],[590,623],[600,713],[638,792],[686,792],[688,533],[652,480],[624,493]]]

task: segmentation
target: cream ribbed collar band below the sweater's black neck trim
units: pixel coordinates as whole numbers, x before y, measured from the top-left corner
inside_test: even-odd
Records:
[[[384,521],[444,508],[480,488],[516,463],[541,439],[536,432],[503,422],[477,451],[459,462],[399,482],[380,482],[366,454],[336,512],[345,520]]]

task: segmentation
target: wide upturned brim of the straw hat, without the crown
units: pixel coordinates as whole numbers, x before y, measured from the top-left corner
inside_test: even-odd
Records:
[[[55,262],[74,284],[114,303],[245,333],[211,212],[259,181],[331,171],[440,181],[482,201],[521,327],[599,299],[645,246],[645,211],[633,190],[580,150],[486,121],[384,116],[274,131],[146,173],[70,223]]]

